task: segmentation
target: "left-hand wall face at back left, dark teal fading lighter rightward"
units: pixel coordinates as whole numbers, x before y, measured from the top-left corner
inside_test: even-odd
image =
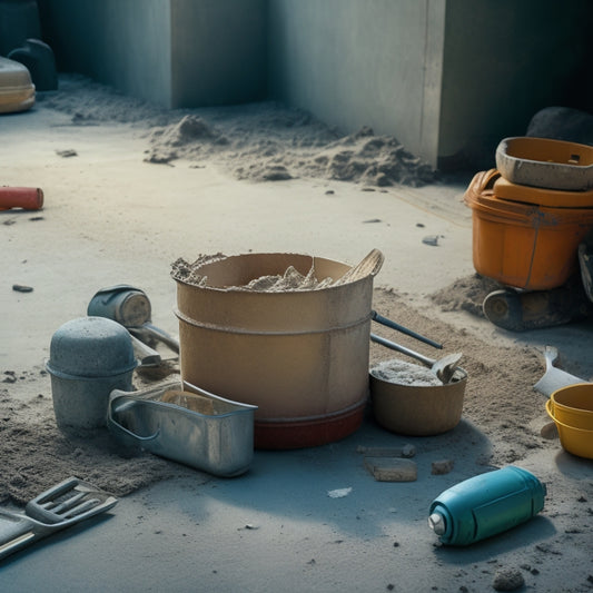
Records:
[[[38,0],[60,71],[171,105],[169,0]]]

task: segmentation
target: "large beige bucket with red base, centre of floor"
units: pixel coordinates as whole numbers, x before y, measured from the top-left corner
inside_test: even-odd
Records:
[[[295,254],[247,254],[198,268],[207,286],[176,279],[181,379],[257,405],[255,446],[295,448],[347,436],[368,397],[373,276],[312,290],[228,289],[255,278],[338,278],[350,266]]]

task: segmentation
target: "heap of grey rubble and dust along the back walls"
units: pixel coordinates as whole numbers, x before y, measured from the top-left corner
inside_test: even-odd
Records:
[[[375,136],[367,126],[344,135],[274,101],[166,110],[78,75],[61,76],[60,91],[39,100],[75,126],[117,121],[144,128],[147,162],[208,161],[250,181],[300,177],[419,187],[436,180],[436,171],[393,136]]]

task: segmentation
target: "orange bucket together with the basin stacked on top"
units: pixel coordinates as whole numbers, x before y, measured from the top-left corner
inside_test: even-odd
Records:
[[[593,147],[506,138],[496,167],[476,174],[464,196],[476,271],[524,290],[564,285],[593,228]]]

